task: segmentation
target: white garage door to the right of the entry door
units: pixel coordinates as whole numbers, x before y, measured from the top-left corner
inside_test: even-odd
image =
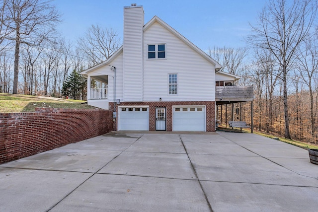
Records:
[[[205,131],[205,107],[173,107],[173,131]]]

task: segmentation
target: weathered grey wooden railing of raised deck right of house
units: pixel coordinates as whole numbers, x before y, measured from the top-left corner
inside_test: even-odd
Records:
[[[215,87],[215,101],[217,105],[253,101],[253,95],[253,85]]]

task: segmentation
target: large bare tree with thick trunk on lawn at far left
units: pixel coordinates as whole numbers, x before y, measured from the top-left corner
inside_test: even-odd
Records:
[[[37,46],[48,39],[59,21],[51,0],[4,0],[3,11],[9,14],[3,26],[10,31],[6,39],[15,42],[13,93],[18,92],[20,45]]]

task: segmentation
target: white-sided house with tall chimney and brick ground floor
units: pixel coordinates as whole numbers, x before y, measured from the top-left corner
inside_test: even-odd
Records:
[[[132,5],[124,7],[123,46],[82,74],[88,104],[115,111],[114,130],[215,131],[220,68],[159,17],[144,24],[143,7]],[[91,79],[104,87],[91,88]]]

